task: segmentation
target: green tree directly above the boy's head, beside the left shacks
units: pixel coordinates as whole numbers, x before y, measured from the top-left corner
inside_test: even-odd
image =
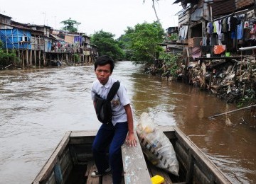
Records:
[[[91,42],[97,45],[97,51],[100,55],[107,54],[115,61],[124,59],[124,51],[119,47],[119,42],[114,40],[112,33],[103,30],[97,31],[92,35]]]

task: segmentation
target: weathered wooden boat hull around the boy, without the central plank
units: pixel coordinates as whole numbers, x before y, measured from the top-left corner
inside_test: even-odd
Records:
[[[161,171],[166,180],[172,183],[231,183],[178,127],[160,129],[173,144],[180,167],[179,176]],[[74,180],[75,183],[91,183],[88,178],[90,168],[95,167],[92,142],[96,133],[96,130],[67,132],[33,183],[74,183]],[[148,161],[147,166],[150,176],[154,176],[157,169]],[[107,177],[100,178],[98,182],[112,182],[111,176]]]

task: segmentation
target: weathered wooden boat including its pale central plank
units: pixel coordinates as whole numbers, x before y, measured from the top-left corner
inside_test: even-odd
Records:
[[[124,177],[122,183],[151,183],[156,175],[165,183],[231,183],[178,127],[160,127],[176,151],[179,176],[166,173],[144,159],[140,145],[122,146]],[[112,176],[91,178],[95,170],[91,146],[94,131],[67,132],[33,183],[112,183]]]

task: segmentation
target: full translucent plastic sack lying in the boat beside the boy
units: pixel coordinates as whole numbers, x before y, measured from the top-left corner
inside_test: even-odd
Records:
[[[178,160],[166,135],[157,129],[148,113],[142,113],[137,124],[139,142],[151,163],[178,176]]]

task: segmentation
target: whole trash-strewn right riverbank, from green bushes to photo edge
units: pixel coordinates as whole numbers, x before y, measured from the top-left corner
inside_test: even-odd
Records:
[[[145,72],[160,75],[169,81],[183,81],[203,91],[238,106],[256,103],[256,60],[247,56],[243,59],[212,59],[190,62],[188,67],[183,59],[178,59],[176,76],[171,76],[171,68],[161,62],[145,69]],[[167,71],[167,72],[166,72]]]

